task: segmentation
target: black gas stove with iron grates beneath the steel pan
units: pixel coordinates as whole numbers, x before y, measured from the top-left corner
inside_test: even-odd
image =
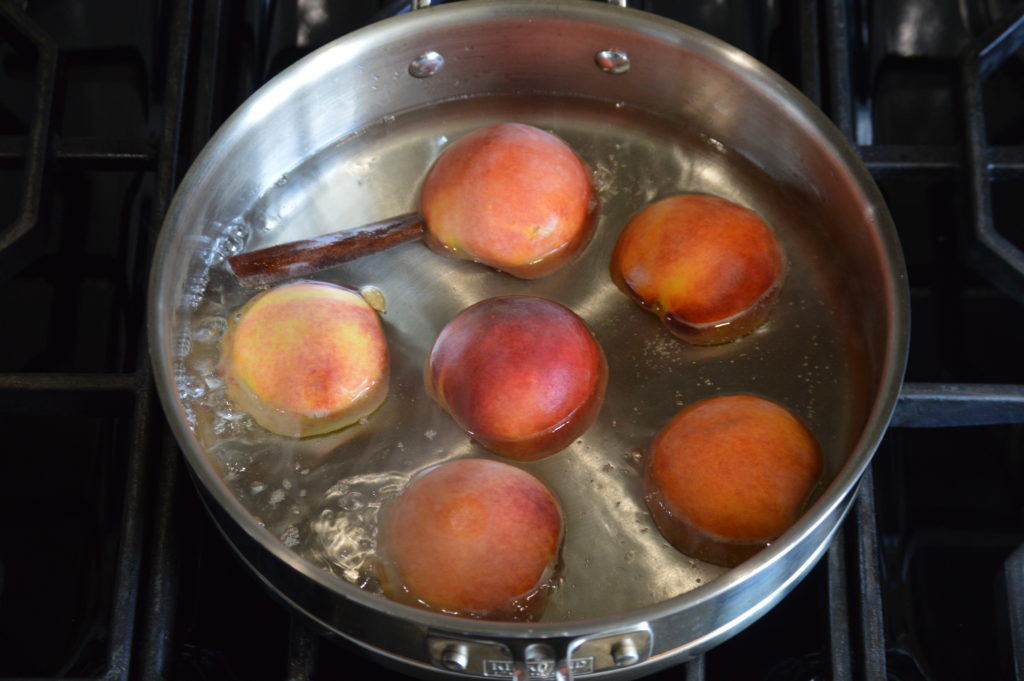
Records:
[[[821,107],[904,249],[901,401],[825,557],[654,679],[1024,679],[1024,4],[635,1]],[[753,6],[757,4],[757,6]],[[393,679],[276,602],[156,399],[148,266],[216,127],[371,0],[0,0],[0,678]]]

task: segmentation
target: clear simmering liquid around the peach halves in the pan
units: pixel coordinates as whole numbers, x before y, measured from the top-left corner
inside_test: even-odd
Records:
[[[504,294],[566,304],[591,327],[608,360],[604,407],[567,450],[518,464],[558,497],[565,514],[564,570],[545,621],[573,621],[651,605],[725,568],[668,545],[643,501],[643,453],[684,405],[755,392],[800,415],[821,442],[824,480],[856,433],[849,414],[859,366],[850,358],[814,212],[787,187],[721,142],[610,102],[479,97],[382,121],[283,175],[224,236],[228,253],[334,231],[416,208],[419,183],[444,144],[502,121],[565,139],[590,165],[600,196],[594,241],[541,280],[521,281],[443,258],[414,242],[315,279],[376,287],[386,301],[392,378],[384,406],[343,431],[294,440],[236,411],[216,374],[227,318],[253,292],[222,263],[203,276],[202,300],[181,330],[177,381],[199,440],[228,487],[281,542],[323,569],[371,591],[382,503],[416,472],[460,457],[494,458],[424,391],[423,366],[440,329],[466,306]],[[790,271],[768,323],[734,343],[689,346],[621,293],[608,275],[618,230],[647,203],[676,193],[724,197],[759,212],[786,250]],[[195,286],[195,283],[194,283]],[[514,550],[514,547],[510,547]]]

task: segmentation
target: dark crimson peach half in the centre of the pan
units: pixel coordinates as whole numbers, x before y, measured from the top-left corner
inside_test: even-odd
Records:
[[[489,298],[441,331],[427,391],[480,444],[532,461],[565,449],[597,417],[604,352],[567,307],[534,296]]]

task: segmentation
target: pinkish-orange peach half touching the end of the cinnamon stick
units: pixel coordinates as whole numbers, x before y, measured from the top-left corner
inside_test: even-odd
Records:
[[[420,193],[427,246],[521,279],[544,276],[580,253],[596,208],[590,172],[572,150],[517,123],[452,142]]]

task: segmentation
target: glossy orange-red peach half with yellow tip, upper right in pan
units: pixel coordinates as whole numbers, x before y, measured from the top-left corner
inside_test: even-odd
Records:
[[[698,194],[641,210],[611,255],[615,285],[696,345],[726,343],[764,324],[784,274],[778,240],[757,213]]]

